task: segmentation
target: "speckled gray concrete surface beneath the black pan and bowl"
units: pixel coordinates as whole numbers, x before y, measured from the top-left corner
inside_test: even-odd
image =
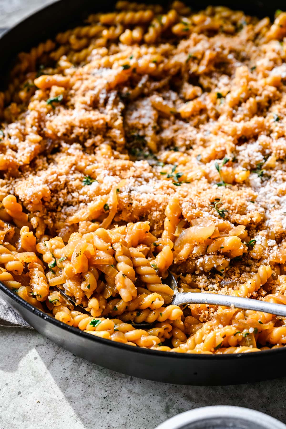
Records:
[[[0,0],[0,27],[46,3]],[[0,429],[154,429],[207,405],[253,408],[286,423],[285,397],[285,378],[226,387],[155,383],[88,363],[35,331],[0,328]]]

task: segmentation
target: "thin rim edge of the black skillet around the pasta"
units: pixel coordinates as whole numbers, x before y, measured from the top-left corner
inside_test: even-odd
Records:
[[[10,33],[12,33],[14,30],[17,30],[18,27],[21,27],[21,25],[27,24],[31,19],[36,19],[37,16],[40,16],[41,13],[47,9],[53,9],[55,5],[64,3],[65,0],[55,0],[53,3],[50,3],[46,6],[40,7],[39,9],[36,9],[35,12],[28,15],[26,18],[18,21],[15,25],[12,27],[9,27],[6,29],[3,33],[0,35],[0,45],[1,40],[5,39],[6,37],[9,37]],[[146,3],[149,1],[147,0]],[[78,20],[75,19],[74,22]],[[72,24],[72,21],[65,24],[63,24],[63,29],[66,28],[67,25]],[[1,47],[1,46],[0,46]],[[3,61],[5,63],[5,59]],[[9,66],[11,66],[11,63],[13,61],[10,60]],[[8,69],[9,69],[8,66]],[[286,352],[286,346],[280,347],[274,350],[261,350],[260,352],[247,352],[247,353],[229,353],[229,354],[200,354],[200,353],[175,353],[175,352],[166,352],[166,351],[160,351],[160,350],[150,350],[148,348],[143,347],[134,347],[128,344],[123,344],[117,341],[111,341],[105,338],[97,337],[95,335],[90,335],[86,332],[81,331],[80,329],[76,329],[73,326],[69,326],[66,323],[60,322],[57,319],[54,319],[53,317],[49,316],[47,313],[39,310],[39,308],[33,307],[33,305],[29,304],[27,301],[22,299],[20,296],[16,295],[12,292],[8,287],[6,287],[1,281],[0,281],[0,290],[9,298],[11,298],[13,301],[17,302],[21,307],[26,308],[30,313],[35,314],[37,317],[40,317],[43,319],[46,323],[51,323],[52,325],[57,326],[60,329],[63,329],[66,332],[71,332],[74,335],[81,336],[83,338],[87,338],[89,341],[93,341],[95,343],[99,342],[102,345],[106,345],[109,347],[114,348],[120,348],[122,350],[126,351],[133,351],[135,353],[141,353],[141,354],[147,354],[149,356],[158,356],[158,357],[165,357],[165,359],[181,359],[181,360],[229,360],[229,359],[251,359],[254,356],[254,353],[256,353],[257,358],[263,358],[263,356],[269,355],[269,353],[277,355],[279,353],[285,353]],[[37,329],[36,329],[37,330]],[[44,335],[45,336],[45,335]],[[45,336],[46,337],[46,336]],[[48,337],[46,337],[48,338]]]

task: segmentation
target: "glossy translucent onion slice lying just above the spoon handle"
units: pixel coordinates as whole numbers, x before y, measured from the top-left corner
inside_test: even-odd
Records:
[[[209,219],[198,218],[191,223],[193,226],[182,231],[175,241],[174,249],[178,249],[187,243],[203,243],[214,233],[214,222]]]

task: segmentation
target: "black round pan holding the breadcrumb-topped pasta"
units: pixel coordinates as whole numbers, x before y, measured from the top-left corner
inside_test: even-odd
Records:
[[[160,3],[154,0],[153,3]],[[165,3],[161,1],[161,3]],[[187,2],[188,3],[188,2]],[[189,2],[192,6],[192,2]],[[59,0],[31,15],[0,39],[0,58],[5,77],[18,52],[72,28],[88,13],[114,10],[115,1]],[[197,3],[193,3],[196,9]],[[216,1],[203,0],[199,7],[223,4],[243,9],[250,15],[271,16],[281,6],[277,0]],[[53,319],[34,308],[0,283],[0,296],[14,307],[37,331],[66,350],[98,365],[135,377],[174,384],[220,385],[240,384],[286,375],[286,348],[258,353],[196,355],[142,349],[95,337]]]

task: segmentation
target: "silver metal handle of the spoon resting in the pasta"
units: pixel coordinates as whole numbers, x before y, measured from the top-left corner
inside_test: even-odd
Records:
[[[243,308],[244,310],[256,310],[276,314],[277,316],[286,316],[286,305],[284,304],[274,304],[273,302],[259,301],[258,299],[218,295],[215,293],[178,292],[175,294],[172,304],[224,305],[226,307]]]

